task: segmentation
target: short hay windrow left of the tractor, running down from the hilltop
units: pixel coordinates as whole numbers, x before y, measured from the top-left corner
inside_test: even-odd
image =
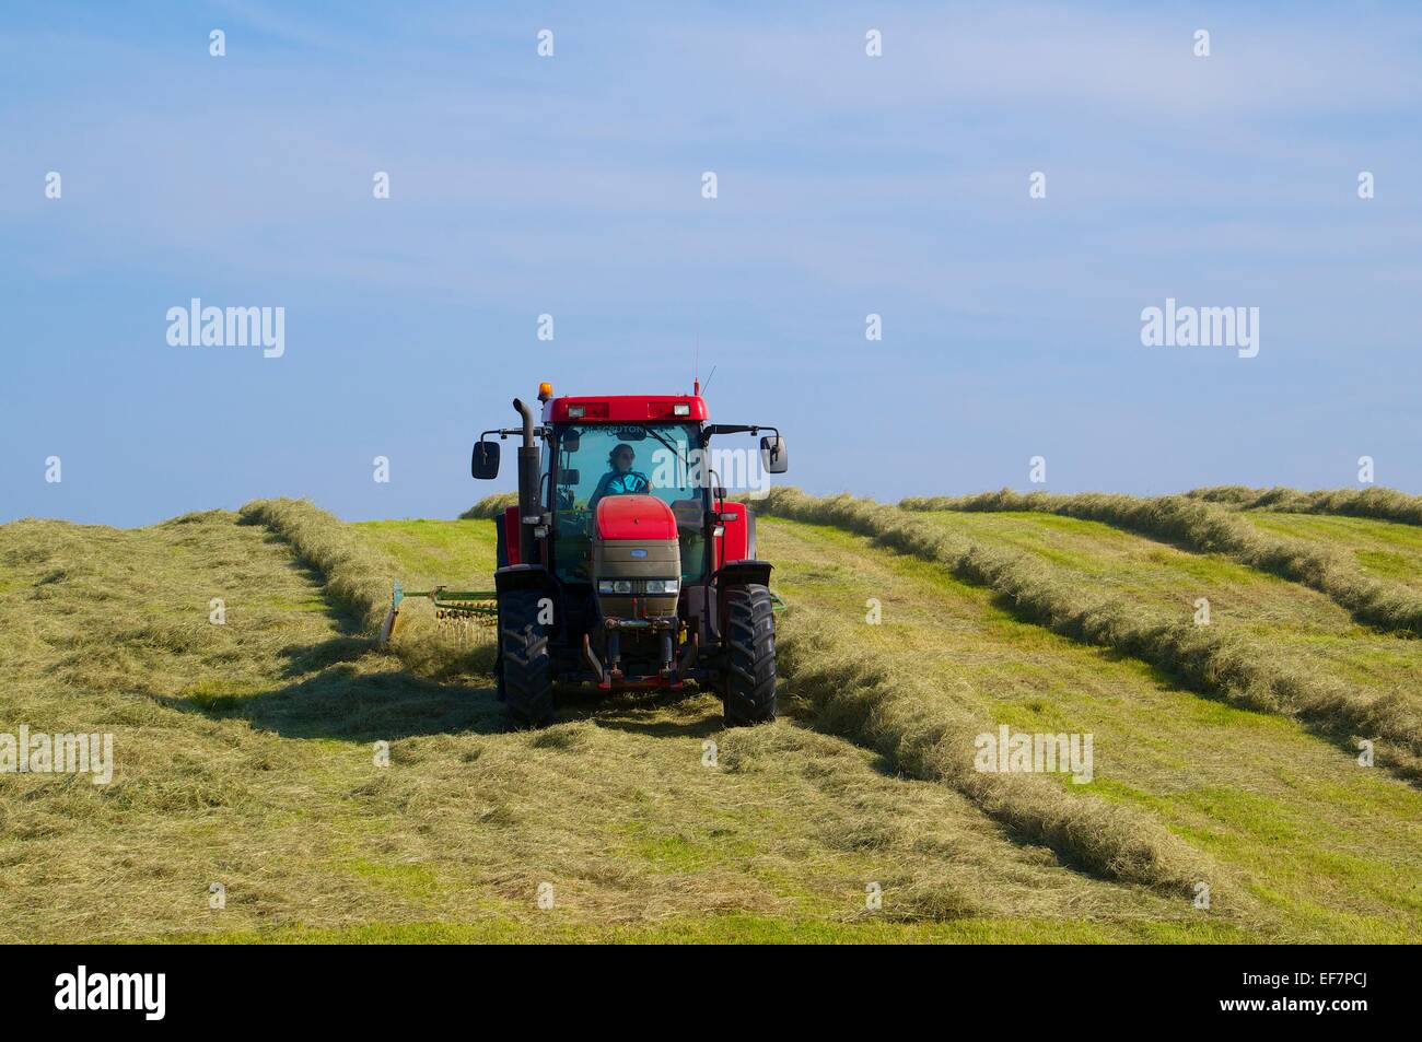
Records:
[[[320,573],[327,600],[374,640],[390,607],[391,583],[400,576],[394,559],[371,549],[340,517],[304,499],[255,499],[242,507],[239,517],[286,540],[299,562]],[[462,647],[431,616],[408,608],[401,608],[400,635],[391,647],[410,670],[432,678],[488,668],[482,658],[491,654],[489,648]]]

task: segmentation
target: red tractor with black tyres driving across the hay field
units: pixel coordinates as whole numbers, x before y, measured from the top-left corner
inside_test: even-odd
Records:
[[[519,726],[553,719],[555,684],[602,691],[710,685],[728,725],[775,718],[771,566],[755,556],[755,515],[727,502],[712,455],[745,478],[789,462],[774,426],[711,424],[690,395],[555,398],[542,422],[518,398],[520,428],[485,431],[475,478],[499,472],[499,442],[520,435],[519,500],[498,527],[499,697]],[[761,431],[754,452],[711,453],[715,435]],[[729,463],[722,462],[729,461]]]

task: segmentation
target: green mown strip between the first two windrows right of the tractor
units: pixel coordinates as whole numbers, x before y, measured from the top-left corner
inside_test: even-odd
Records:
[[[1085,789],[1152,815],[1214,859],[1243,888],[1254,930],[1305,941],[1422,937],[1416,788],[1359,768],[1294,721],[1200,697],[1136,660],[1022,621],[991,591],[867,537],[764,519],[761,539],[788,597],[853,625],[865,648],[919,662],[944,698],[977,699],[994,722],[1027,731],[1092,732],[1096,780]],[[880,625],[863,624],[869,597],[882,603]]]

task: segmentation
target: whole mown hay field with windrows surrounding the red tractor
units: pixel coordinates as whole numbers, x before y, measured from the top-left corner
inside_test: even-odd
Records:
[[[1422,938],[1422,644],[1351,584],[1416,590],[1422,529],[1207,503],[1317,579],[1074,503],[906,506],[765,505],[782,715],[735,731],[688,691],[509,732],[419,603],[377,650],[392,579],[488,584],[482,519],[0,526],[0,732],[115,736],[109,785],[0,775],[0,941]],[[1003,724],[1092,734],[1092,780],[974,772]]]

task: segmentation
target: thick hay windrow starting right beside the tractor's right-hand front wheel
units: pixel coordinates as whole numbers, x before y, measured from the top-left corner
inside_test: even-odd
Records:
[[[789,694],[813,711],[818,728],[872,748],[910,778],[951,786],[1064,863],[1180,894],[1220,879],[1209,859],[1130,807],[1039,775],[977,770],[974,741],[994,729],[991,721],[912,665],[866,652],[828,613],[798,606],[779,625],[776,651]]]

